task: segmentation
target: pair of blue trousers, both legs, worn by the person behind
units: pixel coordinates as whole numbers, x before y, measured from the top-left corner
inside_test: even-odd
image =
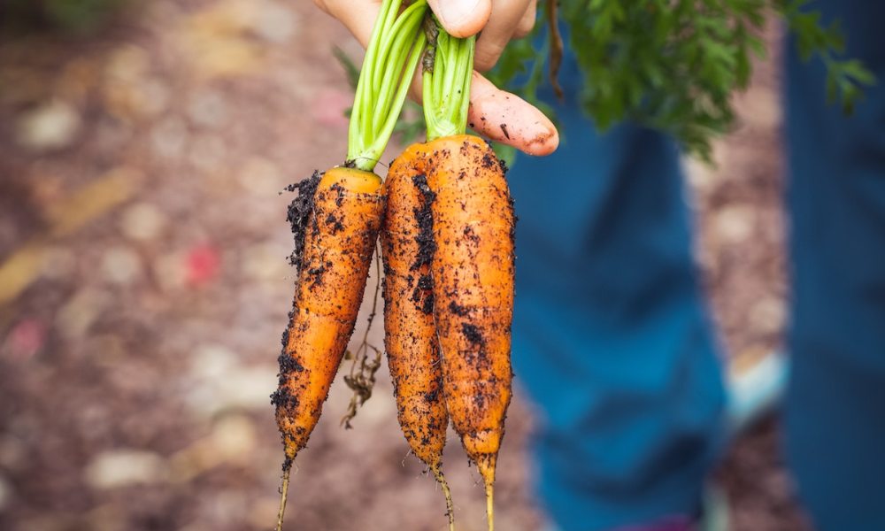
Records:
[[[789,44],[789,460],[820,529],[885,529],[885,4],[812,7],[843,19],[880,85],[847,119]],[[678,154],[639,127],[596,135],[563,68],[565,104],[543,95],[563,144],[509,175],[537,487],[566,531],[691,514],[723,443],[723,390]]]

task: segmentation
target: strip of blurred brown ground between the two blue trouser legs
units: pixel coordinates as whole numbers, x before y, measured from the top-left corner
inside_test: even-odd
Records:
[[[727,354],[743,363],[782,349],[788,319],[780,36],[768,28],[770,58],[736,98],[738,123],[716,145],[717,167],[689,164],[704,286]],[[735,531],[811,528],[794,501],[779,437],[776,419],[767,419],[737,441],[716,474]]]

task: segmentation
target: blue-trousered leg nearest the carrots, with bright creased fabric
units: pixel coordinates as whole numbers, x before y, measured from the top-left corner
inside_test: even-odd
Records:
[[[515,381],[538,406],[538,488],[566,531],[696,512],[723,406],[678,153],[638,127],[596,135],[573,68],[558,152],[508,175]]]

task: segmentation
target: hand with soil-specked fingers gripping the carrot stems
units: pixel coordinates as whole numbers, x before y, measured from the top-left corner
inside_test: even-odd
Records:
[[[482,35],[476,41],[474,67],[485,72],[495,65],[512,38],[527,35],[535,25],[536,0],[427,0],[450,35]],[[379,0],[314,0],[324,12],[342,21],[365,48],[372,35]],[[420,101],[419,77],[412,93]],[[549,155],[559,145],[556,127],[543,112],[525,100],[497,89],[480,73],[473,73],[467,123],[477,133],[512,145],[529,155]]]

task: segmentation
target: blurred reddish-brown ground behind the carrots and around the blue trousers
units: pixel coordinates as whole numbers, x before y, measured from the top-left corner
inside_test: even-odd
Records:
[[[309,2],[143,4],[89,39],[0,40],[0,529],[247,530],[275,515],[268,395],[294,280],[279,192],[341,162],[350,95],[330,46],[358,47]],[[773,348],[785,318],[775,86],[763,67],[719,169],[691,172],[732,352]],[[333,388],[290,528],[444,528],[385,371],[349,432],[349,392]],[[540,526],[529,425],[517,399],[502,529]],[[803,528],[775,439],[769,423],[719,474],[735,529]],[[479,478],[457,443],[446,455],[459,529],[481,529]]]

